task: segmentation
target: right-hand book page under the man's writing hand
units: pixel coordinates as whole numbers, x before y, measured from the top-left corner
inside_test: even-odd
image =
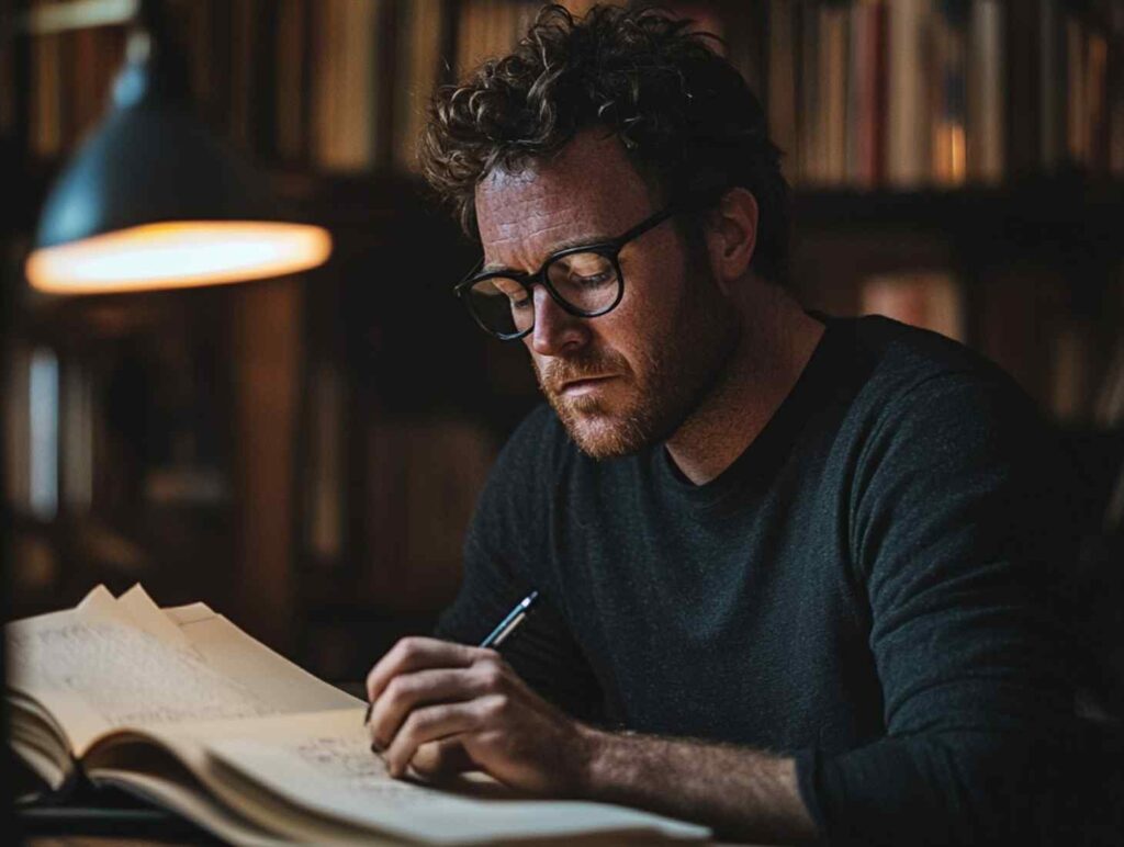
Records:
[[[212,759],[305,809],[371,831],[433,844],[471,844],[517,838],[563,838],[645,832],[652,837],[706,838],[709,830],[624,807],[584,801],[531,800],[490,783],[463,793],[391,778],[370,750],[363,710],[277,716],[253,722],[185,725],[160,729],[178,757],[201,772],[238,811],[269,826],[275,811],[246,804],[248,792],[232,787]],[[191,748],[194,747],[192,750]]]

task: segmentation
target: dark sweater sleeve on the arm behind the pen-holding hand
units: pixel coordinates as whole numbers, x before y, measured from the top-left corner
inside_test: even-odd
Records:
[[[574,717],[601,718],[601,694],[580,647],[556,611],[545,557],[551,513],[553,420],[540,408],[513,434],[489,475],[464,541],[464,576],[435,635],[479,644],[533,589],[540,600],[500,648],[542,696]]]

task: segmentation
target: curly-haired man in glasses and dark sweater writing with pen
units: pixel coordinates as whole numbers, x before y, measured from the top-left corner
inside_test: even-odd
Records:
[[[966,348],[800,308],[778,161],[736,72],[635,10],[547,10],[438,97],[427,176],[483,247],[457,292],[550,406],[445,640],[371,671],[373,746],[728,837],[1057,837],[1055,448]],[[501,653],[471,646],[531,590]]]

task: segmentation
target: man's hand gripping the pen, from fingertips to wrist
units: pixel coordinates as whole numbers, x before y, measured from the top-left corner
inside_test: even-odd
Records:
[[[588,734],[491,649],[404,638],[366,677],[369,729],[391,776],[480,769],[513,787],[580,794]]]

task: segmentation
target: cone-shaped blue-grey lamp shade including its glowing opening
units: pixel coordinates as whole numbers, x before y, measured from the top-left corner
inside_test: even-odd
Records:
[[[44,206],[27,277],[66,293],[208,285],[321,264],[332,238],[291,222],[264,180],[196,118],[134,34],[112,108]]]

